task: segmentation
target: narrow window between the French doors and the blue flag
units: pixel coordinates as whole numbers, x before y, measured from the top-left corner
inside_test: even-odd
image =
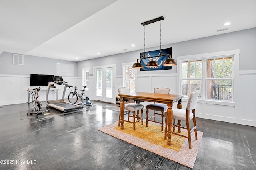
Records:
[[[123,86],[130,88],[130,92],[135,92],[136,87],[136,70],[132,64],[123,65]]]

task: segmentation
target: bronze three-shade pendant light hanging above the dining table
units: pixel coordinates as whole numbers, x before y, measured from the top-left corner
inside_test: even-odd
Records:
[[[158,63],[153,59],[154,57],[161,57],[161,56],[169,56],[168,59],[166,59],[163,63],[164,66],[173,66],[173,65],[177,65],[177,62],[175,59],[172,59],[171,55],[170,54],[166,54],[166,55],[163,55],[163,52],[161,50],[161,20],[164,20],[164,17],[161,16],[159,18],[155,18],[153,20],[150,20],[150,21],[146,21],[144,23],[141,23],[141,25],[144,26],[144,56],[143,58],[139,58],[137,59],[137,62],[134,63],[132,65],[132,68],[143,68],[143,65],[141,63],[138,62],[138,60],[141,60],[141,59],[148,59],[148,58],[151,58],[151,60],[146,64],[147,67],[158,67]],[[160,21],[160,52],[159,52],[159,55],[158,56],[152,56],[152,57],[145,57],[145,40],[146,40],[146,25],[150,24],[150,23],[154,23],[154,22],[157,22],[157,21]]]

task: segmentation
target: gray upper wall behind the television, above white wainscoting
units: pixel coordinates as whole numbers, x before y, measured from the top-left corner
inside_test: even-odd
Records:
[[[15,53],[16,54],[16,53]],[[24,55],[24,65],[12,64],[13,53],[3,52],[0,55],[0,74],[6,75],[30,75],[30,74],[50,74],[56,75],[56,64],[74,64],[74,77],[77,76],[77,62],[45,57]]]

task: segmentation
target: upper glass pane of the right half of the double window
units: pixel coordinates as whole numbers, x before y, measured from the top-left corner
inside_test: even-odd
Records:
[[[232,57],[207,59],[207,78],[232,78]]]

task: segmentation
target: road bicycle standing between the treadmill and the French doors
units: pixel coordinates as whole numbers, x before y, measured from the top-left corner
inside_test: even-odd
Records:
[[[72,88],[74,88],[74,92],[70,92],[68,94],[68,101],[70,103],[76,104],[76,102],[78,101],[78,98],[79,98],[80,102],[78,104],[84,104],[84,100],[86,100],[86,102],[85,102],[86,105],[92,106],[92,103],[90,102],[89,97],[86,96],[86,94],[84,93],[84,90],[87,86],[83,86],[83,87],[84,87],[83,90],[79,90],[77,87],[69,87],[69,90],[72,90]],[[80,94],[78,91],[82,91],[82,93]]]

